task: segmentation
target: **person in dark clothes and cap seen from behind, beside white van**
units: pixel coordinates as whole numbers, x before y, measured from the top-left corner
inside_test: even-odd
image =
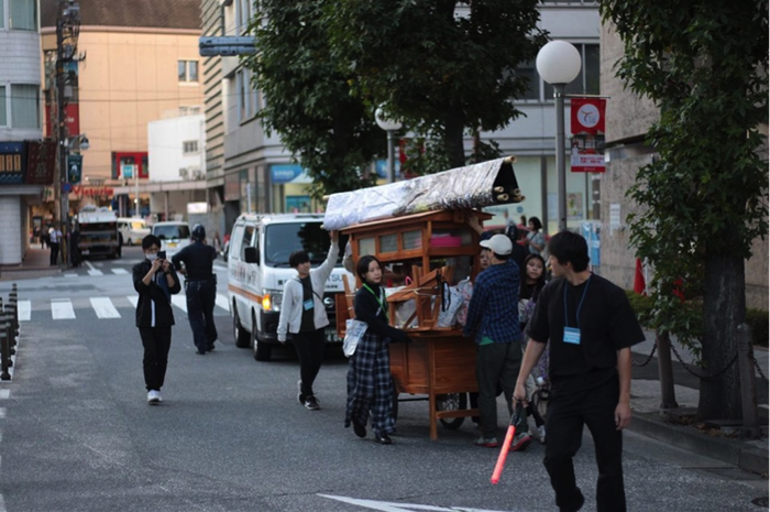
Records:
[[[204,243],[206,228],[202,225],[193,227],[191,238],[193,243],[174,254],[172,263],[185,276],[187,318],[193,329],[196,353],[205,356],[215,349],[217,341],[217,326],[213,323],[213,307],[217,304],[213,260],[217,259],[217,251]]]

